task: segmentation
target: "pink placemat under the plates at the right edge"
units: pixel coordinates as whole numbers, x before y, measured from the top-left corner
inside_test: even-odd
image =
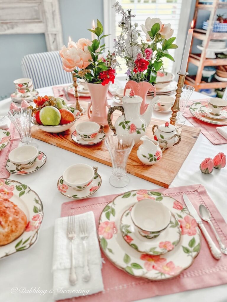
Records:
[[[209,98],[197,100],[198,102],[201,101],[207,101]],[[194,102],[194,101],[193,101]],[[199,120],[198,118],[194,117],[189,108],[187,107],[185,110],[185,113],[183,114],[184,117],[195,127],[200,128],[202,134],[213,144],[213,145],[219,145],[219,144],[226,144],[227,140],[222,137],[216,130],[216,127],[222,127],[219,125],[212,125],[209,123],[206,123],[202,120]]]

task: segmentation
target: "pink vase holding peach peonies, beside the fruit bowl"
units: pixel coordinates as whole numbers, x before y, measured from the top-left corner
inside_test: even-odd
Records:
[[[107,93],[110,83],[106,85],[87,83],[90,92],[91,101],[87,108],[87,115],[91,122],[96,122],[99,125],[108,125],[107,113],[110,105],[107,103]],[[90,107],[92,113],[90,114]]]

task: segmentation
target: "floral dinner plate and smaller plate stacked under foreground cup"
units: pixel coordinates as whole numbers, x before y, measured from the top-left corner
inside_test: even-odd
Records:
[[[132,223],[132,206],[143,199],[160,202],[171,212],[167,228],[152,239]],[[130,275],[165,280],[192,265],[200,251],[200,231],[188,209],[159,192],[139,190],[118,195],[103,209],[98,238],[107,258]]]

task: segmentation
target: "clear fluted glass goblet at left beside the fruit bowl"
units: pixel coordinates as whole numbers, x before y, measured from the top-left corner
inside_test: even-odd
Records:
[[[18,108],[8,111],[7,116],[16,127],[21,143],[37,148],[38,144],[31,143],[31,112],[30,108]]]

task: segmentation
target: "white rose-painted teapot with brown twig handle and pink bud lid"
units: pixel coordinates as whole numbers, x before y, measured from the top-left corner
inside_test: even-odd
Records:
[[[133,138],[136,145],[140,142],[140,137],[145,135],[146,128],[150,124],[154,105],[159,99],[158,96],[154,97],[146,111],[143,114],[140,114],[140,105],[143,99],[140,96],[135,95],[133,90],[131,90],[129,95],[125,95],[122,98],[123,106],[114,106],[109,109],[107,121],[110,129],[113,130],[114,134],[129,135]],[[120,110],[122,115],[118,117],[113,126],[111,116],[115,110]]]

